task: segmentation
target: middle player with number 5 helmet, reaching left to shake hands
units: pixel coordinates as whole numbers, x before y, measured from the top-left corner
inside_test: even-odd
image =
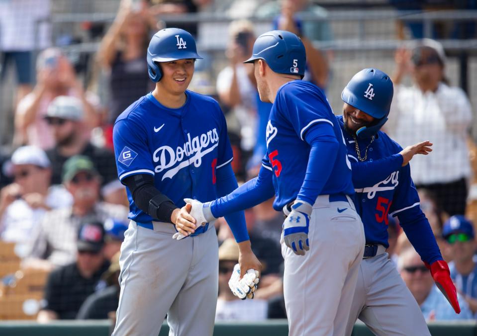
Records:
[[[323,91],[300,80],[305,49],[295,34],[262,34],[246,63],[260,99],[273,103],[267,155],[258,177],[200,203],[202,215],[210,221],[274,195],[275,210],[290,204],[282,233],[289,335],[333,335],[348,319],[365,245],[343,134]]]

